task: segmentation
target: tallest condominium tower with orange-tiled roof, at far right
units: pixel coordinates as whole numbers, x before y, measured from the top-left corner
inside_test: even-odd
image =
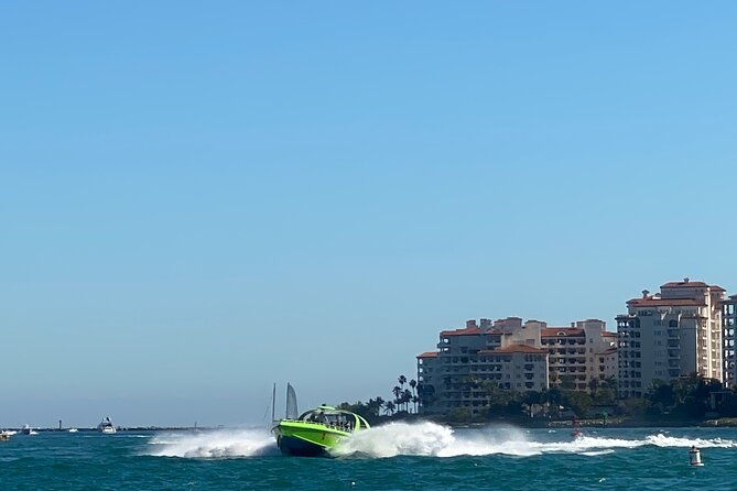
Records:
[[[724,288],[684,279],[627,302],[617,317],[619,396],[694,372],[722,381],[723,299]]]

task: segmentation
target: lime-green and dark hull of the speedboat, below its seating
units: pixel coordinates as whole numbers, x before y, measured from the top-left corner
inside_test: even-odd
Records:
[[[324,457],[340,439],[350,435],[316,423],[282,421],[273,428],[277,446],[286,455]]]

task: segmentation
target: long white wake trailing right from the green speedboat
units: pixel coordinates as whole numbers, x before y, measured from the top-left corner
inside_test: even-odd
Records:
[[[351,435],[342,440],[330,454],[335,457],[386,458],[399,455],[456,457],[494,454],[529,457],[542,454],[572,452],[596,457],[611,454],[618,448],[636,448],[648,445],[737,448],[737,443],[734,440],[678,438],[662,434],[650,435],[644,439],[583,436],[574,440],[563,437],[563,440],[556,441],[554,438],[554,435],[546,435],[546,438],[542,438],[543,441],[539,441],[533,439],[532,435],[524,429],[516,427],[454,430],[447,426],[429,422],[391,423]]]

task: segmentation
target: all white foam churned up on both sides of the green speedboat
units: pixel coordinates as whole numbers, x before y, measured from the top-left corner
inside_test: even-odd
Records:
[[[560,436],[559,436],[560,435]],[[542,454],[577,454],[597,457],[618,449],[642,446],[737,448],[735,440],[675,437],[659,433],[637,439],[607,438],[593,430],[571,438],[567,432],[531,433],[512,426],[457,429],[430,422],[390,423],[343,439],[335,457],[387,458],[399,455],[427,457]],[[265,429],[223,429],[203,433],[161,433],[149,441],[147,455],[183,458],[234,458],[277,455],[279,449]]]

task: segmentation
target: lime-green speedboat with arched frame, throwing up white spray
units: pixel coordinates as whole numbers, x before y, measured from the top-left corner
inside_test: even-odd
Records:
[[[277,445],[288,455],[316,457],[356,432],[369,428],[361,416],[350,411],[322,405],[294,419],[281,419],[272,432]]]

